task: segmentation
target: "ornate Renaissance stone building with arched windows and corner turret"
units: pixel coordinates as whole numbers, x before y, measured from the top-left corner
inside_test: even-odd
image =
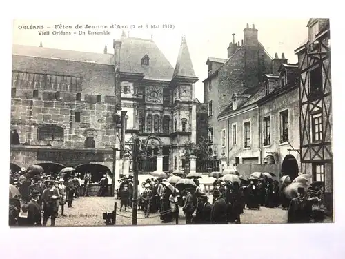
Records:
[[[145,140],[150,136],[148,153],[157,155],[157,164],[153,157],[152,164],[146,161],[146,166],[139,169],[181,169],[184,143],[196,142],[197,137],[195,82],[198,79],[186,38],[182,38],[175,68],[152,39],[122,35],[117,42],[121,106],[122,111],[127,112],[126,143],[128,145],[132,137]]]

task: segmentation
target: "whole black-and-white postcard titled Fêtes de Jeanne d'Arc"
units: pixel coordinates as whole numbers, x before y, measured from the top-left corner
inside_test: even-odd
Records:
[[[14,20],[10,226],[333,222],[330,30]]]

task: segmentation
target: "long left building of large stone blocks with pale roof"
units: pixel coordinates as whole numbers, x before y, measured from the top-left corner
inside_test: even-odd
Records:
[[[94,180],[112,173],[112,59],[111,54],[13,46],[11,132],[19,137],[11,143],[14,168],[44,163],[56,172],[63,164],[92,171]]]

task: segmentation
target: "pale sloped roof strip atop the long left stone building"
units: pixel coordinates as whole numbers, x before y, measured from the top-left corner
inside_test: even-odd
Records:
[[[112,65],[112,55],[14,44],[12,55]]]

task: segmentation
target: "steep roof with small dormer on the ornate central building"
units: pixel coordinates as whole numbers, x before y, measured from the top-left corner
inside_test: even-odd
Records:
[[[141,66],[141,59],[148,55],[150,64]],[[144,79],[170,81],[174,68],[152,39],[124,38],[120,52],[120,70],[142,73]]]

